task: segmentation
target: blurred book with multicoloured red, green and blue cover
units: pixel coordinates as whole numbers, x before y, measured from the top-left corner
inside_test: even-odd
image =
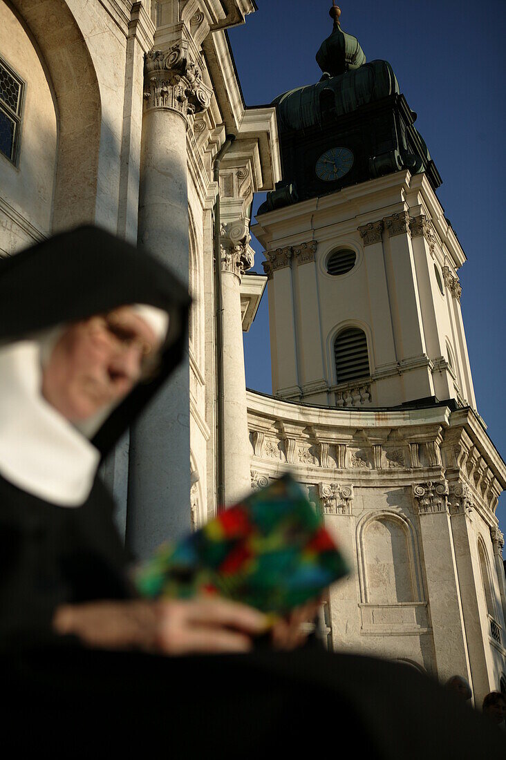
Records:
[[[320,514],[285,475],[176,546],[161,546],[135,583],[145,597],[214,593],[282,614],[347,572]]]

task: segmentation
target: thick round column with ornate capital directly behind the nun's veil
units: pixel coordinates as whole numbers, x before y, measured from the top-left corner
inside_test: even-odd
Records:
[[[138,239],[184,283],[189,280],[186,116],[211,90],[188,43],[145,59]],[[189,357],[132,426],[126,541],[144,557],[190,529]]]

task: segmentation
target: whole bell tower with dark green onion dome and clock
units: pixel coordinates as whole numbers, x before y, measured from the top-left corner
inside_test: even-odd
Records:
[[[273,393],[328,407],[476,401],[438,169],[386,61],[333,32],[275,100],[284,175],[257,214]]]

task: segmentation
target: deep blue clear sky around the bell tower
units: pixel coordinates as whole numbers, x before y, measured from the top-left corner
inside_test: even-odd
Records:
[[[318,81],[314,56],[332,30],[332,0],[257,5],[246,25],[230,33],[250,106]],[[393,66],[443,178],[438,197],[468,258],[459,275],[478,409],[504,458],[506,2],[343,0],[340,7],[342,29],[358,37],[368,61]],[[253,212],[261,201],[258,196]],[[263,271],[258,244],[256,251],[255,269]],[[248,387],[270,393],[267,296],[244,347]],[[497,514],[505,531],[504,496]]]

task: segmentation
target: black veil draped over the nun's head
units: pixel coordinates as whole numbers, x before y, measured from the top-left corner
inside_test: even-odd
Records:
[[[0,261],[0,342],[134,303],[164,309],[169,329],[160,371],[103,423],[93,443],[107,454],[180,362],[187,289],[147,252],[93,226],[57,235]]]

